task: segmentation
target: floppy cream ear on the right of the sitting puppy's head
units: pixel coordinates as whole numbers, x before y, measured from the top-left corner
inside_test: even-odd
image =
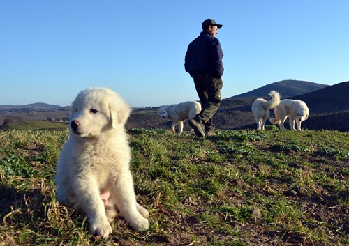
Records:
[[[112,128],[116,128],[117,125],[126,124],[127,118],[131,114],[131,108],[126,104],[126,102],[112,102],[109,105],[109,114]]]

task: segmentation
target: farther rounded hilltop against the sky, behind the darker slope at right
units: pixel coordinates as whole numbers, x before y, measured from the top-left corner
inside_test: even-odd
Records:
[[[327,84],[317,84],[313,82],[306,82],[302,80],[282,80],[279,82],[274,82],[272,84],[267,84],[258,89],[248,91],[239,95],[232,96],[231,98],[265,98],[268,96],[269,91],[278,91],[282,98],[292,98],[296,95],[302,95],[310,93],[313,91],[318,91],[320,89],[326,88]]]

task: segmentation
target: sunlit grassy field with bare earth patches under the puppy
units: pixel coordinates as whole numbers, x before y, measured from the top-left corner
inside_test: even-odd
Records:
[[[103,240],[60,206],[55,162],[68,130],[0,132],[1,245],[349,245],[349,133],[129,130],[150,228],[118,218]]]

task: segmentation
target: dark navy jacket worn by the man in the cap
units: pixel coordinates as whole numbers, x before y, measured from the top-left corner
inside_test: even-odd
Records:
[[[204,72],[214,78],[223,75],[223,51],[218,38],[202,31],[198,38],[188,45],[184,68],[191,75],[195,72]]]

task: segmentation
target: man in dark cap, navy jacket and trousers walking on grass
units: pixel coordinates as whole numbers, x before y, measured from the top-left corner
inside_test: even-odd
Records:
[[[216,35],[223,25],[213,19],[202,22],[202,32],[188,45],[184,67],[194,79],[202,110],[188,121],[198,137],[213,136],[212,116],[221,105],[223,51]]]

